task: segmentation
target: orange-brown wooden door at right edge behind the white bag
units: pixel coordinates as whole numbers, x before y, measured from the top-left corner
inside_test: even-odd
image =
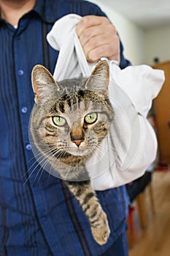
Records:
[[[153,68],[163,69],[166,80],[158,97],[154,99],[158,146],[161,162],[170,164],[170,61],[156,64]]]

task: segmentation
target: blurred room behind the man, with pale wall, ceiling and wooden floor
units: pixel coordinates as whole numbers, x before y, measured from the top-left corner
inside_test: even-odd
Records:
[[[166,82],[150,111],[158,158],[129,208],[129,255],[166,256],[170,243],[170,4],[163,1],[93,0],[114,23],[133,65],[163,69]],[[148,174],[148,172],[147,172]]]

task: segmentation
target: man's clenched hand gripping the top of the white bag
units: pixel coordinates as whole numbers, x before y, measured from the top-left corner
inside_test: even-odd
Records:
[[[77,24],[76,32],[88,61],[96,62],[101,57],[120,61],[119,37],[106,17],[85,16]]]

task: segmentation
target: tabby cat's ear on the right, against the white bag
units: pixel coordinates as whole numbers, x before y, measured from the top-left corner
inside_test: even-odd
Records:
[[[85,89],[101,91],[103,94],[108,94],[109,86],[109,64],[106,60],[98,62],[93,69],[88,81],[85,84]]]

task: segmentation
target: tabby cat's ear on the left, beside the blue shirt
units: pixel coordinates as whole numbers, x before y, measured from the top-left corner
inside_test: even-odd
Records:
[[[58,88],[53,75],[42,65],[36,65],[31,74],[32,87],[35,95],[35,102],[53,93],[54,86]]]

